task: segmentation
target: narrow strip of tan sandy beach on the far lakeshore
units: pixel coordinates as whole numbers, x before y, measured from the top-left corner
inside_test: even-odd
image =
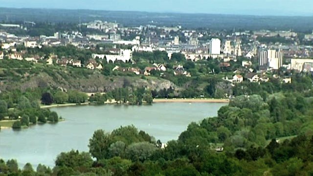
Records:
[[[153,103],[165,102],[186,102],[186,103],[228,103],[229,99],[212,99],[212,98],[173,98],[173,99],[154,99]]]

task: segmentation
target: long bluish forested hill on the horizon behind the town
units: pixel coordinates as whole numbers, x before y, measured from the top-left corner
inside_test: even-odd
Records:
[[[102,20],[119,22],[125,26],[152,24],[158,26],[182,25],[185,28],[244,30],[312,31],[313,17],[245,16],[216,14],[148,13],[101,10],[17,9],[0,8],[0,22],[90,22]],[[153,21],[153,23],[152,23]]]

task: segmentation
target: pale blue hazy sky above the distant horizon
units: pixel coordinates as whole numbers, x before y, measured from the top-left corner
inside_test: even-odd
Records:
[[[313,16],[313,0],[0,0],[0,7]]]

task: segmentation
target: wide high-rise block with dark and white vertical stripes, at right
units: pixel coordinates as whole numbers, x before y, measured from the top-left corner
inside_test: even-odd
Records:
[[[272,69],[279,69],[283,65],[284,53],[274,49],[260,51],[259,64],[260,66],[268,66]]]

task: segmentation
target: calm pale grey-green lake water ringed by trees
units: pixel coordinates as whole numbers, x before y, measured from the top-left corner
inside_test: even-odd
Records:
[[[156,103],[152,106],[80,106],[54,108],[66,121],[34,125],[21,131],[1,130],[0,158],[17,159],[20,167],[30,162],[54,166],[61,152],[88,151],[89,138],[97,129],[106,132],[134,125],[165,143],[177,139],[191,122],[216,116],[225,103]]]

